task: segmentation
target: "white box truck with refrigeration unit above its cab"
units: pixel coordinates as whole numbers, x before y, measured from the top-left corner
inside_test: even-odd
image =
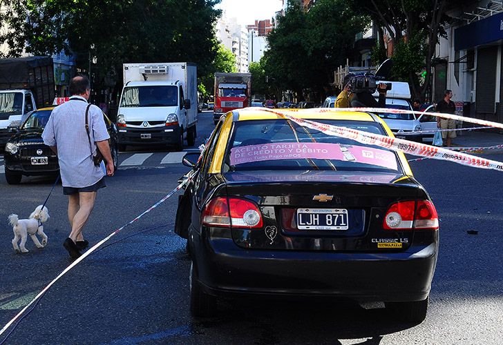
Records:
[[[198,122],[196,65],[124,63],[124,88],[117,112],[118,144],[193,146]]]

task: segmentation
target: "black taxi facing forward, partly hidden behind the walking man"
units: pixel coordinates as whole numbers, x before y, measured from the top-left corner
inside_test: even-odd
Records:
[[[4,164],[8,184],[20,184],[23,176],[57,175],[59,164],[57,155],[44,144],[42,132],[55,107],[41,108],[30,113],[6,144]],[[117,127],[103,114],[110,139],[113,166],[117,169]]]

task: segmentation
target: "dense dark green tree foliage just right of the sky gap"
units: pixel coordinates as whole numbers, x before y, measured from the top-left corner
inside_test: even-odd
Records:
[[[347,1],[319,0],[307,13],[290,2],[269,34],[266,74],[278,88],[297,95],[307,88],[323,97],[323,86],[333,81],[334,70],[350,55],[355,34],[368,23],[367,17],[354,15]]]

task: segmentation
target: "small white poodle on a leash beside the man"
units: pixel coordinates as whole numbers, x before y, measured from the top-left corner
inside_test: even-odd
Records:
[[[42,209],[42,205],[37,206],[35,210],[30,215],[30,219],[21,219],[17,215],[9,216],[9,223],[12,225],[12,230],[14,230],[14,239],[12,239],[12,246],[14,250],[19,252],[19,248],[21,248],[21,253],[28,253],[28,249],[25,248],[26,239],[28,235],[32,238],[33,242],[35,242],[35,246],[37,248],[44,248],[47,244],[47,235],[44,233],[44,223],[49,219],[49,212],[44,206]],[[39,242],[37,235],[39,234],[42,237],[42,243]],[[21,243],[19,246],[17,242],[21,239]]]

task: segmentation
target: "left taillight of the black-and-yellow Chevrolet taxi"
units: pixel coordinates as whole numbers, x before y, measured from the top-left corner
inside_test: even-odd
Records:
[[[229,228],[262,228],[263,220],[256,204],[237,197],[216,197],[202,211],[202,224]]]

